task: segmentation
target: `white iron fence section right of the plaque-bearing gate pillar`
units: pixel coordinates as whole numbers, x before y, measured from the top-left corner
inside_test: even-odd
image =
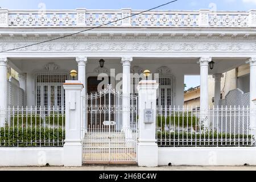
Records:
[[[248,106],[213,107],[206,112],[192,108],[157,109],[156,139],[159,146],[242,147],[255,144],[249,128]]]

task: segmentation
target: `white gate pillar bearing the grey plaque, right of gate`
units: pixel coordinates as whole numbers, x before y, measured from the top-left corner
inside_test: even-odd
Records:
[[[156,81],[141,81],[139,93],[139,140],[138,165],[146,167],[158,166],[158,144],[156,143]]]

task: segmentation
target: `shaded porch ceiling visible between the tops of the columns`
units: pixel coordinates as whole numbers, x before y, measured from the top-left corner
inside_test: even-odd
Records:
[[[106,65],[119,65],[122,67],[121,64],[121,57],[88,57],[88,64],[98,65],[98,61],[100,59],[104,59]],[[213,70],[209,70],[209,75],[215,73],[225,73],[230,71],[234,68],[239,67],[246,63],[248,58],[230,58],[230,57],[213,57],[213,61],[215,62],[215,66]],[[161,66],[168,66],[172,68],[174,65],[180,65],[180,67],[188,67],[196,68],[194,72],[200,75],[200,67],[197,63],[199,61],[199,57],[191,57],[191,58],[159,58],[159,57],[134,57],[131,66],[139,65],[143,69],[146,68],[148,65],[156,67]],[[34,57],[34,58],[11,58],[10,65],[13,67],[17,72],[23,73],[27,71],[31,71],[33,69],[40,69],[43,68],[44,65],[47,63],[56,63],[59,64],[61,69],[77,69],[77,63],[75,57]],[[198,67],[197,67],[198,66]]]

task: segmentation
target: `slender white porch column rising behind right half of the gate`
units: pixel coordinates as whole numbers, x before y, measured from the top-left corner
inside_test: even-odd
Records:
[[[131,97],[131,61],[133,61],[133,57],[122,57],[123,64],[123,83],[122,83],[122,122],[123,122],[123,130],[130,129],[130,97]]]

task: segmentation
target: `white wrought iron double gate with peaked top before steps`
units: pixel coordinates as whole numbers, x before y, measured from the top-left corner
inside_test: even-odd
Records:
[[[121,93],[112,85],[103,92],[86,96],[87,130],[83,141],[84,163],[137,162],[137,96],[127,97],[129,109],[124,109]],[[130,118],[123,118],[128,111]],[[123,125],[123,120],[129,125]]]

